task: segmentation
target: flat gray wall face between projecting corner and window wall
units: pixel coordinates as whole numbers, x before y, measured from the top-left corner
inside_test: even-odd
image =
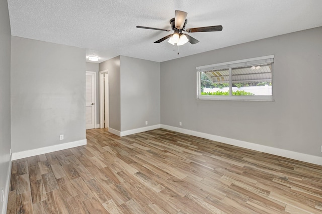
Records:
[[[159,63],[121,56],[121,131],[157,124],[160,124]]]

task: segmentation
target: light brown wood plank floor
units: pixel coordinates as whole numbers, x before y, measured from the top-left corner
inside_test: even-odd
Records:
[[[322,212],[322,166],[164,129],[87,139],[13,161],[7,213]]]

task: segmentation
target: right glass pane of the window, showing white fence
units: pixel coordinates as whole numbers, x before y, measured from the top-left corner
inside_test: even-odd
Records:
[[[271,96],[272,64],[231,69],[233,96]]]

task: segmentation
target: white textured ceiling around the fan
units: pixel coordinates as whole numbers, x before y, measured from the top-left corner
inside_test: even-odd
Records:
[[[118,55],[157,62],[322,26],[320,0],[8,0],[13,36],[86,49],[99,62]],[[190,33],[200,42],[153,43],[169,32],[175,10],[187,28],[222,25],[221,32]]]

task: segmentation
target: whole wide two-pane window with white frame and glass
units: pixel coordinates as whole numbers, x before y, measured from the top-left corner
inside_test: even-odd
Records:
[[[197,67],[197,99],[273,100],[274,55]]]

